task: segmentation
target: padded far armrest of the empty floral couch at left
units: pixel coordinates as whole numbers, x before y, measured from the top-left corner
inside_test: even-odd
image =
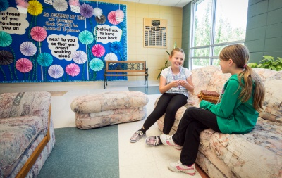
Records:
[[[0,118],[37,115],[42,117],[45,134],[50,104],[51,94],[46,91],[0,94]]]

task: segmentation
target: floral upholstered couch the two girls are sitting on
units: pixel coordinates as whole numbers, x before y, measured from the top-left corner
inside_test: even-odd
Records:
[[[196,162],[209,177],[282,177],[282,71],[254,70],[266,88],[264,110],[259,113],[257,125],[248,134],[222,134],[212,129],[201,133]],[[202,89],[221,91],[230,76],[214,66],[192,70],[195,91],[188,103],[178,109],[171,134],[176,132],[186,108],[199,106],[197,94]],[[164,116],[157,124],[162,131]]]

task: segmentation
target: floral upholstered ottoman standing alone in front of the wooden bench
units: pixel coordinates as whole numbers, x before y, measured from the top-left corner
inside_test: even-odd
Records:
[[[149,99],[140,91],[112,91],[79,96],[71,103],[75,125],[92,129],[123,122],[143,120]]]

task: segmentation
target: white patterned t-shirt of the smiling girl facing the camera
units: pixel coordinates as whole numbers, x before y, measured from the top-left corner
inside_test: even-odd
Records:
[[[174,75],[171,67],[165,68],[164,70],[161,70],[161,76],[163,76],[166,79],[166,84],[171,83],[175,80],[187,80],[188,77],[192,75],[192,72],[188,68],[180,68],[180,72],[177,75]],[[178,87],[172,87],[168,91],[166,91],[167,94],[184,94],[185,96],[189,97],[188,90],[185,89],[185,87],[182,87],[179,85]]]

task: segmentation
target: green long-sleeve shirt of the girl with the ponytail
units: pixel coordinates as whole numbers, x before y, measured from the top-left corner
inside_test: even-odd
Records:
[[[259,113],[252,106],[255,85],[252,96],[245,103],[238,98],[241,92],[241,88],[238,89],[239,85],[238,75],[234,74],[224,84],[220,103],[214,104],[204,100],[200,102],[200,108],[216,115],[217,124],[223,134],[251,132],[257,123]]]

